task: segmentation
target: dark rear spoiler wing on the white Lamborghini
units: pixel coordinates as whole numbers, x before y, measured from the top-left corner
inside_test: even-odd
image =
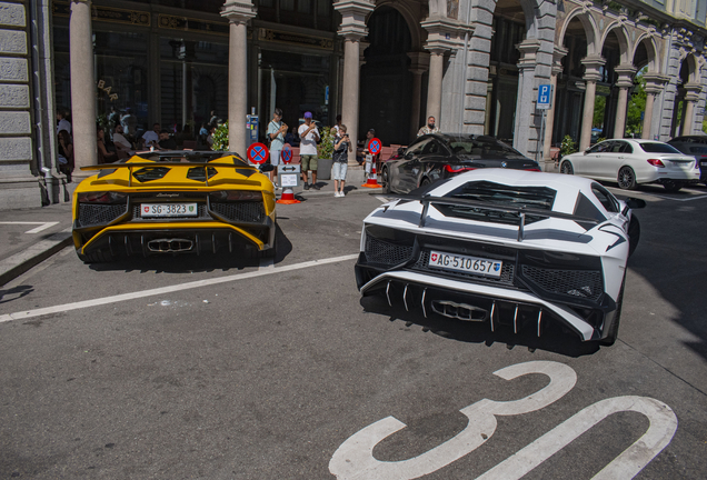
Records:
[[[470,207],[480,210],[495,211],[499,213],[515,213],[518,214],[518,241],[522,241],[525,236],[526,216],[542,217],[542,218],[558,218],[562,220],[571,220],[579,224],[585,230],[590,230],[594,227],[603,223],[606,220],[597,220],[589,217],[580,217],[571,213],[560,213],[548,210],[534,209],[528,207],[510,207],[507,204],[480,202],[476,200],[467,200],[459,198],[448,197],[431,197],[431,196],[405,196],[405,194],[386,194],[385,197],[395,198],[404,201],[418,201],[422,203],[422,212],[420,213],[419,227],[425,227],[427,220],[427,212],[430,204],[444,204],[451,207]]]

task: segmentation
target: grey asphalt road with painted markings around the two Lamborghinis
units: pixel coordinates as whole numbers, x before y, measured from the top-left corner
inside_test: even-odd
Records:
[[[0,290],[0,478],[704,479],[707,188],[635,196],[610,348],[361,299],[369,194],[279,207],[273,264],[66,249]]]

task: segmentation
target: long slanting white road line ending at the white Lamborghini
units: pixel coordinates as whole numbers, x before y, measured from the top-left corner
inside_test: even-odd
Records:
[[[98,298],[93,300],[84,300],[84,301],[74,302],[74,303],[64,303],[64,304],[60,304],[56,307],[46,307],[46,308],[40,308],[36,310],[26,310],[26,311],[20,311],[14,313],[6,313],[0,316],[0,323],[12,321],[12,320],[24,320],[28,318],[40,317],[40,316],[51,314],[51,313],[61,313],[61,312],[79,310],[79,309],[89,308],[89,307],[98,307],[98,306],[108,304],[108,303],[117,303],[121,301],[135,300],[139,298],[145,298],[145,297],[173,293],[173,292],[178,292],[182,290],[191,290],[196,288],[209,287],[209,286],[219,284],[219,283],[228,283],[232,281],[247,280],[247,279],[262,277],[262,276],[272,274],[272,273],[283,273],[283,272],[300,270],[300,269],[305,269],[309,267],[318,267],[318,266],[328,264],[328,263],[337,263],[342,261],[355,260],[357,258],[358,258],[358,253],[341,256],[341,257],[332,257],[328,259],[312,260],[312,261],[295,263],[295,264],[285,266],[285,267],[266,268],[262,270],[248,272],[248,273],[238,273],[238,274],[228,276],[228,277],[198,280],[198,281],[188,282],[188,283],[175,284],[170,287],[161,287],[161,288],[151,289],[151,290],[136,291],[132,293],[123,293],[119,296],[103,297],[103,298]]]

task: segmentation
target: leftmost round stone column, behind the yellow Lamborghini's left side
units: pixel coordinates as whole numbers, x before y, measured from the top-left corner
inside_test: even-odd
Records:
[[[96,138],[96,70],[93,66],[93,33],[91,1],[72,0],[69,21],[71,67],[71,136],[77,181],[96,174],[79,168],[98,164]]]

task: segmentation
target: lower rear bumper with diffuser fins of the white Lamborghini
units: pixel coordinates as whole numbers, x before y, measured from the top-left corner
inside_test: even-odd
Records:
[[[506,324],[512,327],[515,333],[531,329],[540,337],[548,322],[557,321],[581,341],[600,340],[608,336],[616,314],[616,304],[606,306],[599,324],[591,324],[569,306],[539,298],[530,291],[406,269],[381,271],[360,260],[356,264],[356,279],[362,296],[381,293],[389,304],[402,303],[406,310],[416,309],[425,317],[437,313],[459,320],[488,322],[491,331]]]

